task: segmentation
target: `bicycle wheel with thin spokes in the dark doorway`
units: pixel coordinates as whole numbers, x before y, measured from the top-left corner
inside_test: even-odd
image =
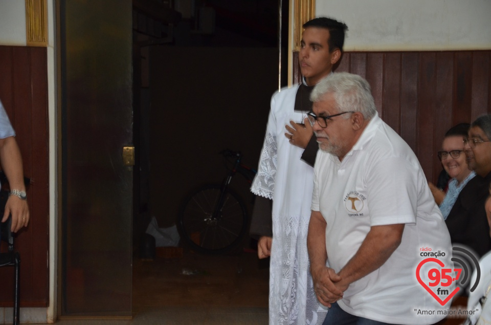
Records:
[[[230,189],[224,193],[222,206],[216,209],[220,187],[206,185],[192,192],[178,216],[182,239],[198,252],[225,253],[241,242],[247,230],[245,205]]]

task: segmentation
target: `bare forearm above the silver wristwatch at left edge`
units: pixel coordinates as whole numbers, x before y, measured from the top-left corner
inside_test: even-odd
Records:
[[[26,190],[20,149],[14,137],[0,140],[0,162],[11,189]]]

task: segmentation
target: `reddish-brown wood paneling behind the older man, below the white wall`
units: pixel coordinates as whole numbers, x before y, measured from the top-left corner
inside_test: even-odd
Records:
[[[379,115],[433,182],[445,132],[491,113],[491,51],[346,52],[336,71],[370,82]]]

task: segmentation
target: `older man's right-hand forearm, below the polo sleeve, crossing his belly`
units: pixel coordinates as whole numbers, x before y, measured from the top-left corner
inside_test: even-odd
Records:
[[[349,286],[380,268],[399,246],[403,231],[404,224],[372,227],[358,252],[338,273],[342,285]]]

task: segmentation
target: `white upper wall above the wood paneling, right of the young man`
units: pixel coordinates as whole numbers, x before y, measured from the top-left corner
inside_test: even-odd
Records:
[[[489,50],[490,0],[317,0],[348,25],[345,51]]]

